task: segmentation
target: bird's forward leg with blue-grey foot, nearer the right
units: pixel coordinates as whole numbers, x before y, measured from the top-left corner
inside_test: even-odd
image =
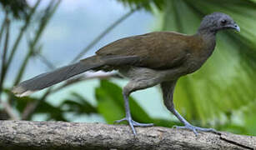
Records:
[[[200,127],[191,125],[184,117],[182,117],[178,113],[178,111],[176,111],[176,109],[174,108],[174,104],[173,104],[173,91],[174,91],[175,84],[176,84],[176,81],[161,83],[161,88],[163,91],[164,105],[168,108],[168,110],[170,112],[173,112],[173,114],[178,118],[178,120],[180,122],[182,122],[184,124],[184,126],[174,126],[174,127],[175,128],[185,128],[185,129],[191,130],[191,131],[193,131],[193,133],[195,133],[196,136],[198,135],[198,131],[218,133],[213,128],[200,128]]]

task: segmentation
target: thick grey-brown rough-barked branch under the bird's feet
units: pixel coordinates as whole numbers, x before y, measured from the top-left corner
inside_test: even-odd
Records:
[[[256,149],[256,137],[82,122],[0,121],[1,149]]]

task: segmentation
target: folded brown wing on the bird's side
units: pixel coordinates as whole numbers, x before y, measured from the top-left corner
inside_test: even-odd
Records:
[[[188,42],[189,36],[178,32],[151,32],[111,42],[96,54],[106,59],[110,57],[112,61],[107,61],[108,65],[168,69],[186,60]]]

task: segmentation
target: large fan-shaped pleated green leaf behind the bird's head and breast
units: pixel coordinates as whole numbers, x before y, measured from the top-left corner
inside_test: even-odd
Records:
[[[197,32],[203,16],[222,12],[230,15],[241,32],[218,33],[213,56],[193,74],[181,77],[174,103],[190,121],[213,123],[233,113],[256,97],[256,3],[249,0],[169,0],[162,14],[163,30]],[[214,123],[213,123],[214,124]]]

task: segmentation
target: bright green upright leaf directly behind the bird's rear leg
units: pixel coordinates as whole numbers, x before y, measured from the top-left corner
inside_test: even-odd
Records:
[[[122,89],[113,82],[101,80],[100,87],[96,89],[96,98],[98,111],[103,114],[108,123],[125,117]],[[153,121],[133,97],[129,98],[129,103],[133,120],[138,122]]]

